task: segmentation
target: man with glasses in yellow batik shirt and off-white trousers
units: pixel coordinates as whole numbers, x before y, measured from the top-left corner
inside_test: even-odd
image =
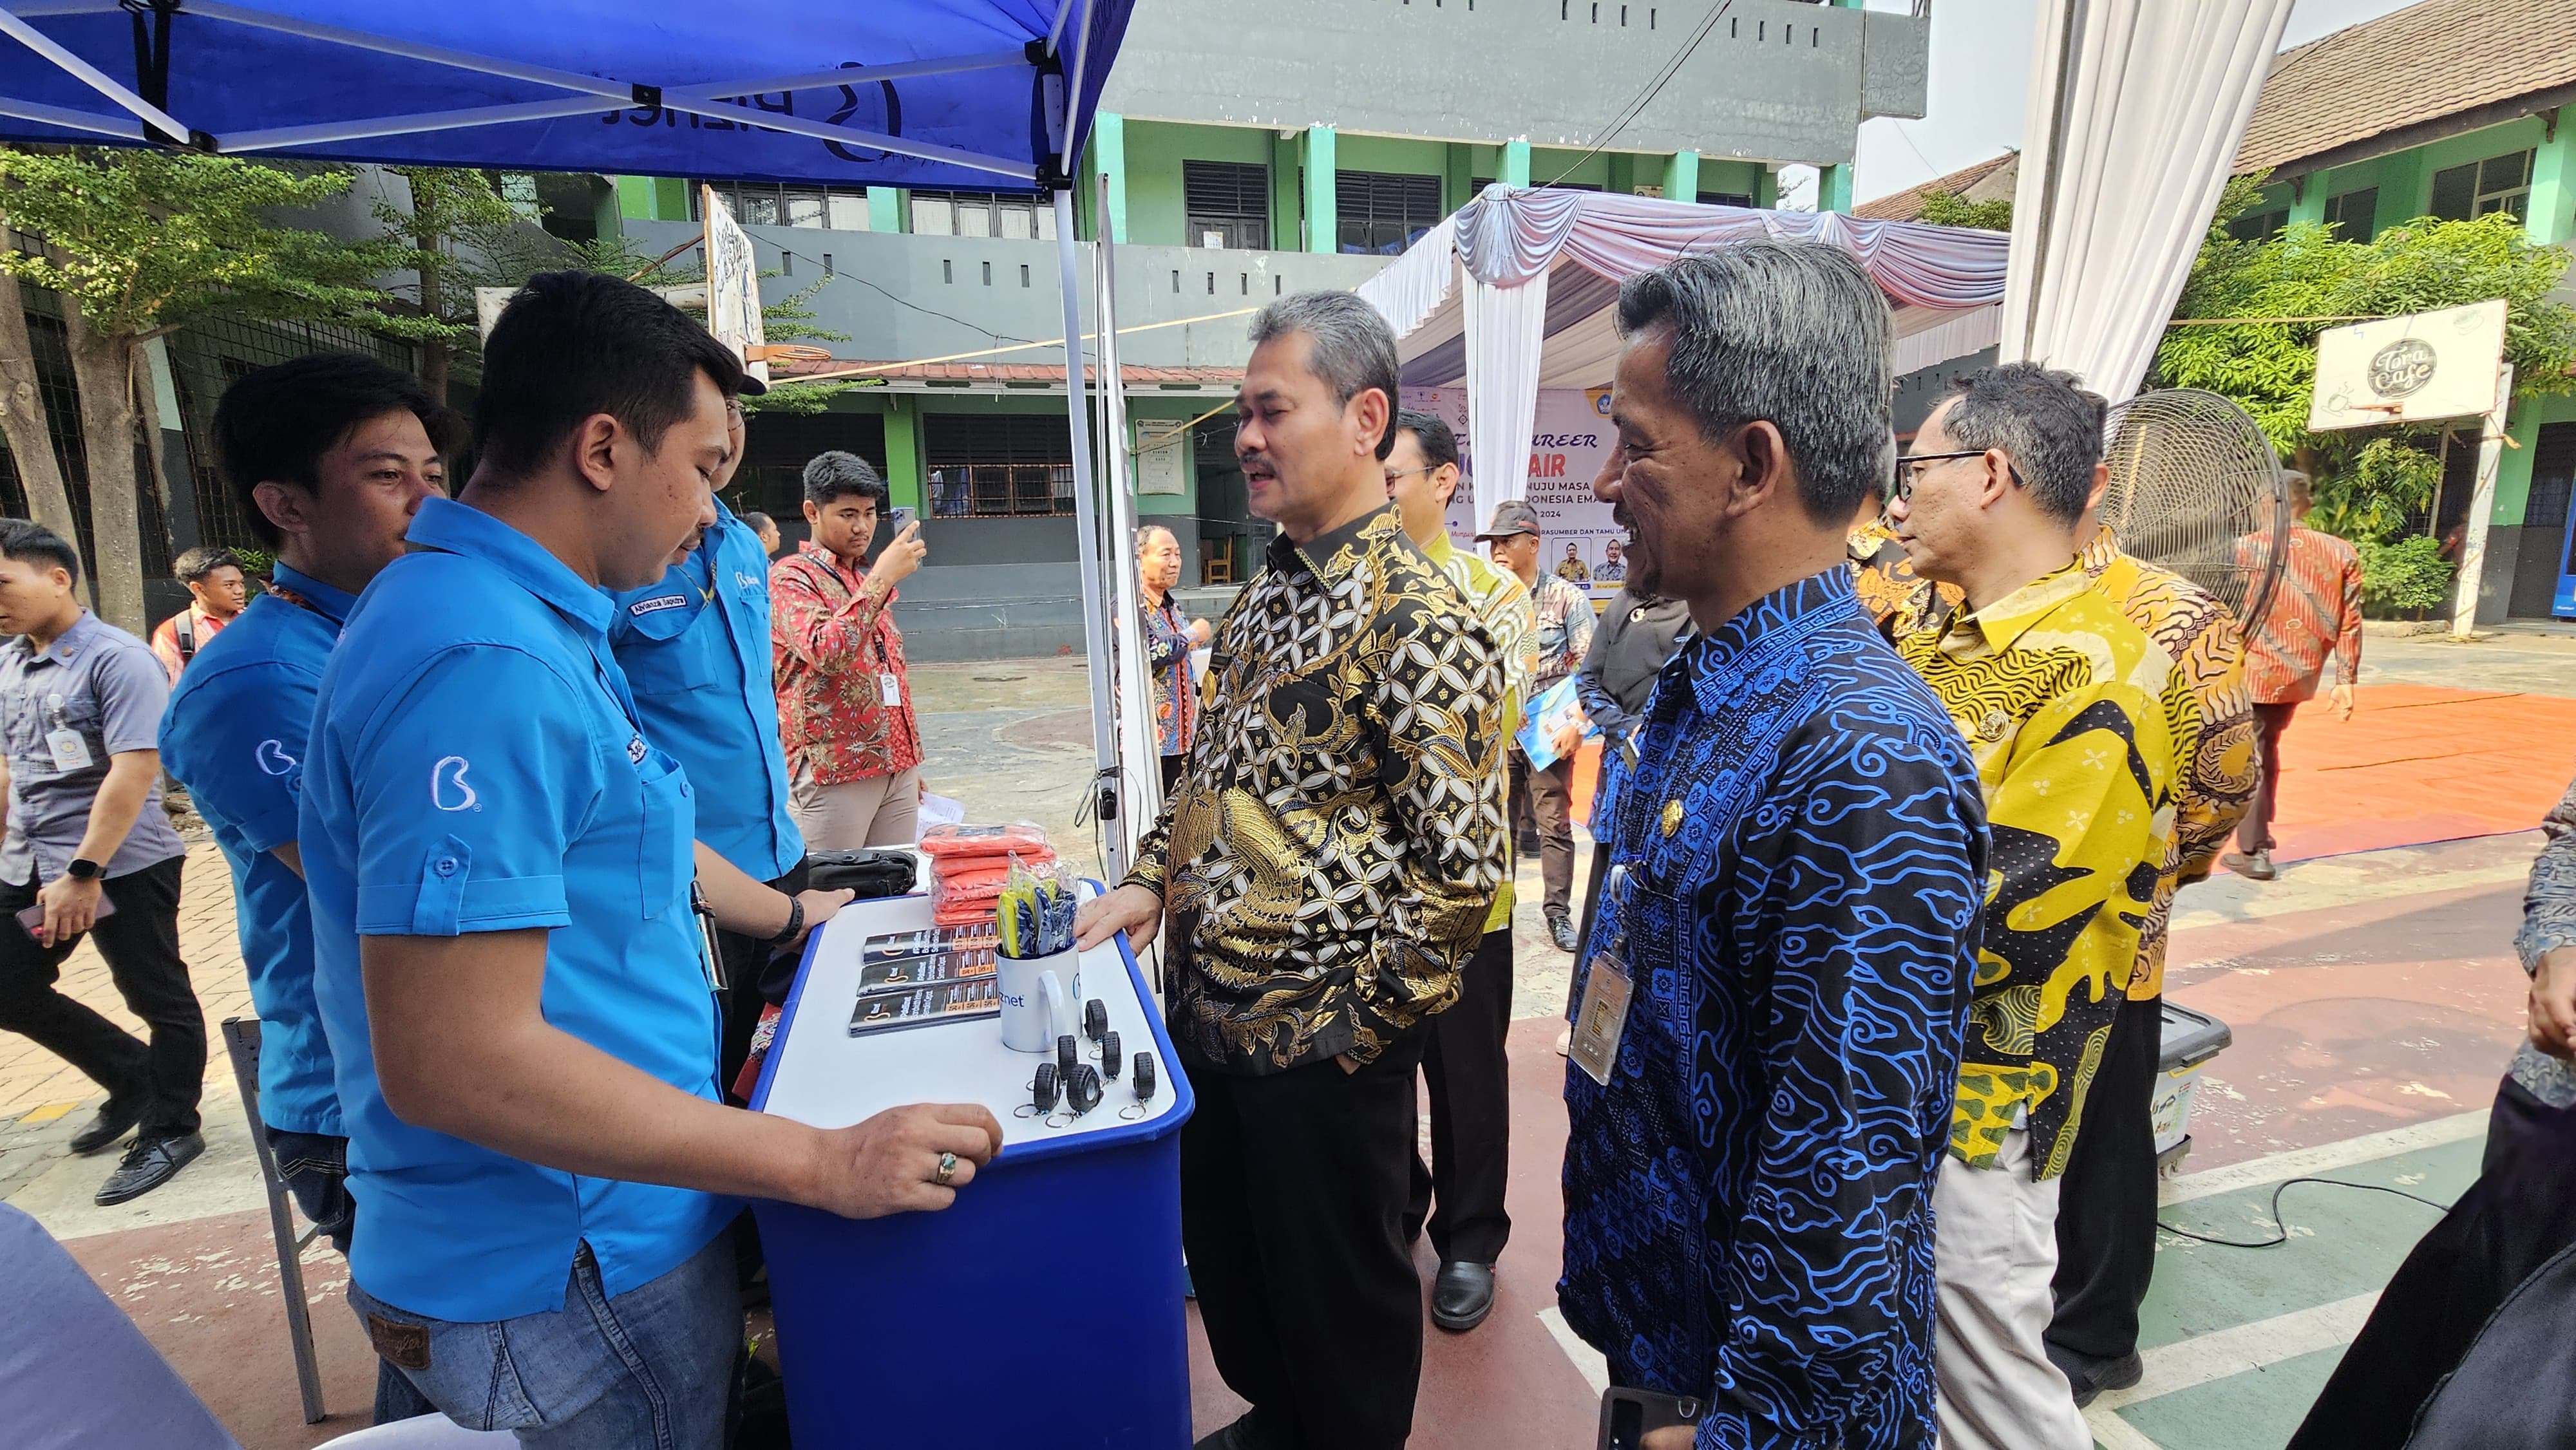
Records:
[[[2048,1360],[2058,1174],[2138,963],[2174,827],[2172,657],[2099,592],[2076,525],[2102,407],[2030,363],[1953,384],[1899,464],[1888,520],[1947,626],[1899,654],[1976,757],[1989,896],[1940,1216],[1945,1450],[2089,1450]]]

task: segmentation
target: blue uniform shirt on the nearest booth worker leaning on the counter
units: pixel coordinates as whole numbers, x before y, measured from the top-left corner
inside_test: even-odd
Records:
[[[546,927],[546,1022],[706,1100],[716,1007],[688,907],[688,775],[644,744],[608,595],[459,502],[428,500],[410,541],[422,551],[368,585],[322,675],[296,837],[366,1223],[350,1275],[422,1316],[492,1321],[562,1308],[585,1241],[611,1295],[652,1283],[734,1205],[394,1118],[358,940]]]

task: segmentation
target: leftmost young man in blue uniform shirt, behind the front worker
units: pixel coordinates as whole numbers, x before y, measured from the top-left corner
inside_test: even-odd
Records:
[[[278,567],[268,592],[180,675],[160,747],[232,865],[232,914],[260,1012],[260,1128],[304,1216],[348,1252],[348,1133],[314,1010],[296,793],[340,623],[366,582],[402,556],[420,500],[446,492],[440,451],[461,438],[410,373],[314,353],[224,389],[214,440],[242,518]],[[425,1409],[410,1380],[379,1362],[376,1422]]]

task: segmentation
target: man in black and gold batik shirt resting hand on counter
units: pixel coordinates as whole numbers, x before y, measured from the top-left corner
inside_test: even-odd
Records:
[[[1252,1409],[1200,1450],[1399,1450],[1422,1373],[1404,1244],[1414,1069],[1502,883],[1504,659],[1386,505],[1396,340],[1352,294],[1252,325],[1234,456],[1280,525],[1211,698],[1084,945],[1170,932],[1198,1095],[1180,1239]]]

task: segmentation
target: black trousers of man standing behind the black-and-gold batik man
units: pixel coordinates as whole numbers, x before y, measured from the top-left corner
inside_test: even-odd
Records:
[[[1414,1136],[1414,1195],[1404,1239],[1425,1226],[1443,1265],[1492,1265],[1512,1239],[1502,1190],[1512,1169],[1512,927],[1486,932],[1466,958],[1458,1002],[1430,1020],[1422,1079],[1432,1089],[1432,1162]],[[1437,1208],[1435,1208],[1437,1205]]]

